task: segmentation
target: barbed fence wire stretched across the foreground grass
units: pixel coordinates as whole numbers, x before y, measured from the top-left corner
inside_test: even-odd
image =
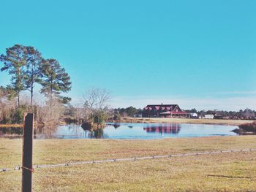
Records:
[[[175,158],[175,157],[182,157],[182,156],[189,156],[189,155],[211,155],[211,154],[217,154],[217,153],[238,153],[238,152],[250,152],[250,151],[256,151],[256,149],[217,150],[217,151],[199,152],[199,153],[179,153],[179,154],[170,154],[170,155],[151,155],[151,156],[132,157],[132,158],[112,158],[112,159],[98,160],[98,161],[78,161],[78,162],[70,162],[66,164],[35,165],[34,169],[53,168],[58,166],[74,166],[74,165],[81,165],[81,164],[101,164],[101,163],[110,163],[110,162],[118,162],[118,161],[139,161],[139,160],[156,159],[156,158]],[[19,171],[21,169],[22,169],[21,166],[15,165],[13,169],[3,168],[3,169],[0,169],[0,172]]]

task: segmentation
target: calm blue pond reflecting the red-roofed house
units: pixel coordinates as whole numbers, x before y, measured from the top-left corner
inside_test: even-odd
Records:
[[[35,128],[35,139],[162,139],[182,137],[210,137],[237,135],[238,126],[187,124],[187,123],[107,123],[104,129],[85,131],[80,125],[70,124],[56,128]],[[22,129],[22,128],[21,128]],[[0,129],[0,137],[17,138],[23,131]],[[13,134],[15,136],[13,136]]]

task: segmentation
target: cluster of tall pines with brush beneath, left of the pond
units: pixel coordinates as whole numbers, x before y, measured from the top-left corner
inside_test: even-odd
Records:
[[[0,123],[20,123],[23,112],[37,113],[39,105],[34,104],[36,85],[41,87],[39,92],[46,98],[45,105],[40,106],[41,108],[48,106],[49,110],[56,106],[56,102],[67,104],[71,100],[61,96],[61,93],[71,90],[69,74],[59,61],[43,58],[36,48],[24,45],[8,47],[6,53],[0,55],[0,63],[3,64],[1,72],[10,75],[10,84],[0,86]],[[30,95],[29,104],[20,100],[25,91]],[[15,119],[17,116],[18,119]]]

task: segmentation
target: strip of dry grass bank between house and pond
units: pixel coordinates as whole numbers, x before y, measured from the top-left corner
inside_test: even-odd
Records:
[[[190,118],[121,118],[120,122],[129,123],[194,123],[239,126],[252,123],[253,120],[224,120],[224,119],[190,119]]]

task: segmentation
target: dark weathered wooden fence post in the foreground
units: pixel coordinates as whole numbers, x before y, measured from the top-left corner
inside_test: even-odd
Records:
[[[28,113],[23,123],[22,192],[32,191],[32,151],[34,137],[34,114]]]

